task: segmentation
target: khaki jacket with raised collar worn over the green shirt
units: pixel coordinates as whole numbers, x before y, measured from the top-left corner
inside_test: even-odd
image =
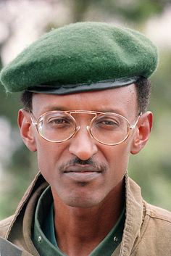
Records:
[[[40,256],[31,240],[31,226],[36,203],[46,186],[48,184],[38,174],[15,214],[1,220],[1,256]],[[122,242],[112,256],[170,256],[171,212],[144,202],[140,187],[127,175],[125,186],[125,228]]]

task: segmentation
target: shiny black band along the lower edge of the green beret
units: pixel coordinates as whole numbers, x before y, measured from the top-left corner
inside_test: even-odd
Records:
[[[78,84],[66,84],[58,86],[57,83],[50,83],[48,85],[38,85],[33,87],[28,87],[27,91],[35,92],[35,93],[42,93],[42,94],[74,94],[77,92],[83,91],[100,91],[109,88],[117,88],[121,86],[128,86],[131,83],[135,83],[140,76],[133,76],[132,78],[119,78],[114,80],[103,80],[97,83],[85,84],[85,83],[78,83]]]

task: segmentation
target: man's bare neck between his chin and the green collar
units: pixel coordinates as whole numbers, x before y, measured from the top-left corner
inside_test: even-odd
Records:
[[[53,189],[52,194],[57,244],[69,256],[89,255],[117,223],[125,202],[124,180],[103,202],[89,208],[70,207]]]

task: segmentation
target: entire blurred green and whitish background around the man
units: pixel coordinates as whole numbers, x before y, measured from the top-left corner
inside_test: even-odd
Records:
[[[170,0],[0,0],[0,69],[53,28],[70,22],[111,22],[146,34],[159,49],[151,77],[151,139],[130,158],[129,173],[151,204],[171,210],[171,2]],[[0,86],[0,219],[11,215],[38,168],[36,153],[17,128],[20,94]]]

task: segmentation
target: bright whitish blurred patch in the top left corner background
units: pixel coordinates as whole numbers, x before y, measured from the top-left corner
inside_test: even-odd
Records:
[[[9,0],[0,3],[0,28],[4,36],[10,35],[4,44],[1,57],[7,65],[26,46],[43,33],[46,25],[62,26],[70,20],[70,10],[62,1]],[[0,42],[2,41],[0,37]]]

